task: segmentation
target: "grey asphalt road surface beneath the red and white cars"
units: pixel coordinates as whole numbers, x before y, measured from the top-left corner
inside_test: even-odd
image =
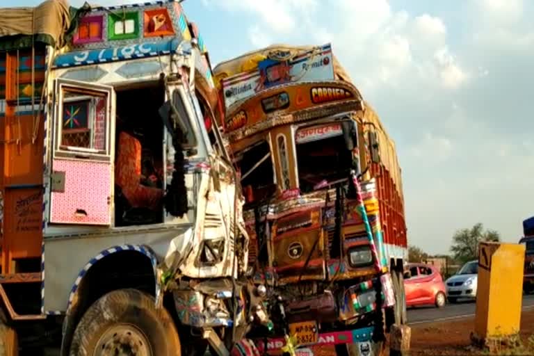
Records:
[[[534,308],[534,296],[523,297],[523,309]],[[436,307],[416,307],[408,309],[408,324],[415,325],[430,321],[447,321],[475,315],[475,302],[458,302]]]

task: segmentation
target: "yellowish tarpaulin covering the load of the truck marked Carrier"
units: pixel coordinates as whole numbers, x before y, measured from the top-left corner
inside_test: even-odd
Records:
[[[256,51],[250,51],[246,54],[243,54],[242,56],[238,56],[236,58],[226,60],[223,63],[219,63],[213,70],[213,74],[217,82],[227,76],[233,76],[238,73],[254,70],[255,67],[257,67],[257,62],[263,60],[264,58],[266,58],[266,56],[275,51],[289,51],[291,55],[296,55],[301,54],[304,51],[311,51],[314,48],[316,47],[273,44],[270,47],[258,49]],[[336,56],[333,56],[333,59],[335,79],[353,83],[346,70],[341,66],[339,60],[337,60]],[[377,128],[378,142],[380,143],[380,157],[382,159],[382,163],[384,164],[385,168],[389,170],[389,174],[391,175],[391,179],[393,179],[394,181],[398,194],[403,197],[401,168],[398,165],[395,143],[393,140],[391,140],[391,138],[389,138],[389,135],[387,134],[384,126],[382,125],[382,122],[380,122],[380,118],[373,110],[373,108],[369,105],[369,103],[365,102],[364,108],[364,120],[366,120],[366,122],[372,122]]]

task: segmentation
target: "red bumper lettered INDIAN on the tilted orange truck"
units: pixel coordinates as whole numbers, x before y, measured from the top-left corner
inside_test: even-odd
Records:
[[[341,343],[360,343],[362,347],[366,348],[373,337],[374,327],[362,327],[354,330],[346,330],[340,332],[323,332],[318,334],[318,342],[314,344],[298,346],[297,356],[314,356],[319,353],[314,353],[314,350],[321,349],[321,355],[328,355],[325,353],[326,349],[332,349],[332,355],[335,354],[334,346]],[[255,340],[256,346],[260,353],[264,350],[268,355],[282,355],[282,348],[286,345],[284,339],[267,339],[265,343],[263,340]],[[367,345],[366,345],[367,344]]]

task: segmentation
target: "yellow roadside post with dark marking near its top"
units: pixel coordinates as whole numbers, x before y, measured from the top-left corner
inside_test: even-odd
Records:
[[[523,298],[525,246],[480,243],[475,330],[471,339],[492,350],[514,343],[519,333]]]

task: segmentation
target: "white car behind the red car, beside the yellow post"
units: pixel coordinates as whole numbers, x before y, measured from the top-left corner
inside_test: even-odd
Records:
[[[445,281],[447,300],[451,303],[458,299],[476,299],[478,261],[469,261],[452,277]]]

